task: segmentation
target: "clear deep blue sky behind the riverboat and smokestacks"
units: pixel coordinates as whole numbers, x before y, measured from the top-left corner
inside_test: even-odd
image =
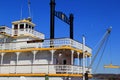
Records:
[[[49,38],[50,0],[30,0],[31,17],[36,24],[35,30]],[[120,69],[104,69],[110,64],[120,66],[120,0],[55,0],[56,11],[67,16],[74,14],[74,39],[82,42],[85,35],[86,45],[93,49],[101,40],[107,28],[112,32],[96,73],[120,73]],[[0,0],[0,25],[11,27],[11,22],[28,17],[27,0]],[[69,37],[69,25],[55,18],[55,38]],[[101,53],[99,53],[101,54]],[[100,55],[99,55],[100,56]],[[99,57],[98,56],[98,57]],[[96,59],[95,65],[98,63]]]

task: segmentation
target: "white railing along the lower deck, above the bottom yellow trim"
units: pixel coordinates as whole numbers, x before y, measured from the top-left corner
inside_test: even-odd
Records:
[[[86,68],[87,70],[87,68]],[[82,67],[72,65],[1,65],[0,74],[5,73],[45,73],[45,74],[81,74]],[[90,70],[91,71],[91,70]]]

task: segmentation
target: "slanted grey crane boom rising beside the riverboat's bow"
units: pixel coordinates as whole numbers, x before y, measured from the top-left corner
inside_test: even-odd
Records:
[[[111,33],[112,27],[109,27],[107,29],[107,31],[105,32],[104,36],[102,37],[98,49],[96,50],[95,56],[93,57],[91,64],[88,66],[88,70],[85,72],[85,80],[88,80],[88,73],[89,73],[89,69],[92,67],[96,57],[98,56],[98,53],[100,52],[100,50],[102,49],[103,45],[105,44],[105,42],[108,40],[109,35]],[[101,56],[102,57],[102,56]],[[98,62],[99,63],[99,62]]]

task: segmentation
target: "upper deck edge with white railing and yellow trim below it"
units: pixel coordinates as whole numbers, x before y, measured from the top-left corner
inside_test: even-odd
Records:
[[[19,42],[11,42],[11,43],[0,43],[0,52],[14,52],[16,50],[19,51],[28,51],[31,48],[37,49],[59,49],[61,47],[64,48],[72,48],[82,52],[82,43],[79,43],[75,40],[69,38],[61,38],[61,39],[52,39],[52,40],[40,40],[37,42],[29,42],[29,41],[19,41]],[[85,51],[91,54],[92,50],[88,46],[85,46]]]

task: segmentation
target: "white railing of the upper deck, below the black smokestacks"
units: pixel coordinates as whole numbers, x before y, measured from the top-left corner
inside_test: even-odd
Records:
[[[12,49],[25,49],[25,48],[49,48],[61,47],[61,46],[70,46],[79,50],[82,50],[82,43],[79,43],[75,40],[69,38],[63,39],[53,39],[53,40],[44,40],[43,42],[37,43],[27,43],[27,42],[16,42],[16,43],[0,43],[0,49],[12,50]],[[91,48],[85,46],[85,50],[91,53]]]

